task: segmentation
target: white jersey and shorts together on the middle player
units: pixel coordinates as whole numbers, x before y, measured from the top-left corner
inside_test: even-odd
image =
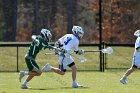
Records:
[[[66,69],[67,65],[74,62],[74,59],[72,58],[71,54],[74,51],[78,51],[79,40],[73,34],[66,34],[63,37],[61,37],[58,41],[61,45],[63,45],[61,48],[67,51],[67,53],[65,53],[65,56],[61,56],[58,53],[58,63],[59,65],[63,64],[63,68]]]

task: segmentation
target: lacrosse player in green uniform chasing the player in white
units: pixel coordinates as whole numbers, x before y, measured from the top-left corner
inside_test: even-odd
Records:
[[[28,89],[27,83],[34,77],[40,76],[42,74],[42,70],[39,68],[38,64],[35,61],[37,54],[40,50],[44,50],[45,48],[49,48],[48,42],[51,40],[52,34],[47,29],[42,29],[40,35],[32,35],[32,43],[29,47],[28,52],[25,54],[25,62],[29,69],[27,71],[20,71],[19,81],[21,82],[22,78],[25,75],[28,75],[27,79],[23,81],[21,88]]]

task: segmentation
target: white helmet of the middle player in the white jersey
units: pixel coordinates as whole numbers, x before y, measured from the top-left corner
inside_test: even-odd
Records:
[[[73,34],[78,37],[79,39],[81,39],[84,36],[84,30],[82,27],[80,26],[73,26],[72,28],[72,32]]]

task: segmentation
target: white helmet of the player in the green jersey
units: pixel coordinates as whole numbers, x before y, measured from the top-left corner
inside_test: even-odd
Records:
[[[52,34],[49,30],[47,29],[41,29],[40,32],[41,36],[47,41],[50,42],[51,38],[52,38]]]

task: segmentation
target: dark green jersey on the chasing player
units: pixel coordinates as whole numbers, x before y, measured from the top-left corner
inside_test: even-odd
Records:
[[[39,43],[36,41],[39,41]],[[29,57],[35,58],[39,51],[44,50],[46,46],[48,46],[48,42],[45,41],[40,35],[37,35],[36,39],[32,41],[27,55]]]

